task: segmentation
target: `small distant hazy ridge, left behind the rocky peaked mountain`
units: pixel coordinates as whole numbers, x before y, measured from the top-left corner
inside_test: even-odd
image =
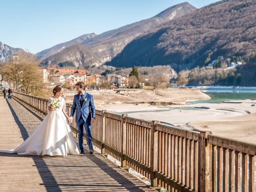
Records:
[[[40,58],[40,59],[48,58],[49,56],[62,51],[64,48],[67,48],[67,47],[69,47],[71,45],[74,45],[74,44],[84,42],[84,41],[86,41],[90,38],[93,38],[95,36],[97,36],[97,34],[95,34],[95,33],[84,34],[82,36],[79,36],[78,38],[75,38],[75,39],[71,40],[71,41],[61,43],[61,44],[55,45],[51,48],[48,48],[46,50],[43,50],[43,51],[37,53],[37,57]]]

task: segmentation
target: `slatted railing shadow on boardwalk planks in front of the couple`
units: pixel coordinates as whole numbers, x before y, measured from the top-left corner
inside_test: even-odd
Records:
[[[44,157],[60,189],[71,191],[152,191],[100,154]]]

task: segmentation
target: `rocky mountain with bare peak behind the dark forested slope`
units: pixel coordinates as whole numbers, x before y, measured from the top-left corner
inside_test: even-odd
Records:
[[[72,50],[67,52],[66,50],[62,50],[50,56],[50,58],[42,61],[42,65],[47,66],[49,62],[51,65],[58,65],[60,62],[69,61],[73,62],[73,64],[77,67],[100,66],[105,62],[110,61],[114,56],[122,51],[124,46],[126,46],[130,41],[132,41],[146,30],[158,26],[159,24],[162,24],[166,21],[186,15],[194,10],[196,10],[196,8],[187,2],[178,4],[164,10],[152,18],[135,22],[115,30],[110,30],[80,42],[80,44],[82,44],[86,50],[90,50],[90,52],[96,56],[96,58],[92,58],[92,60],[89,59],[86,62],[82,60],[78,61],[77,59],[66,60],[68,58],[66,54],[72,54],[72,58],[74,58],[74,55],[77,54],[84,54],[86,57],[86,53],[77,53]],[[86,58],[90,58],[90,56]]]

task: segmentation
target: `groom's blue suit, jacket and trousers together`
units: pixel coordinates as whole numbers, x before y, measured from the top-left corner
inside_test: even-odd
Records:
[[[86,139],[89,146],[89,150],[93,148],[92,146],[92,134],[91,134],[91,119],[95,118],[95,107],[91,94],[84,93],[84,102],[81,106],[80,103],[81,95],[76,94],[74,96],[73,105],[71,108],[70,117],[74,116],[76,111],[76,125],[78,128],[78,142],[80,150],[84,150],[84,128],[86,132]]]

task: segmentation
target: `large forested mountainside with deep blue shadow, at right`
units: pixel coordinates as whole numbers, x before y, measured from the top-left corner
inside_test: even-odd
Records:
[[[256,54],[255,20],[255,0],[222,0],[151,28],[107,64],[169,64],[180,71],[217,58],[250,59]]]

